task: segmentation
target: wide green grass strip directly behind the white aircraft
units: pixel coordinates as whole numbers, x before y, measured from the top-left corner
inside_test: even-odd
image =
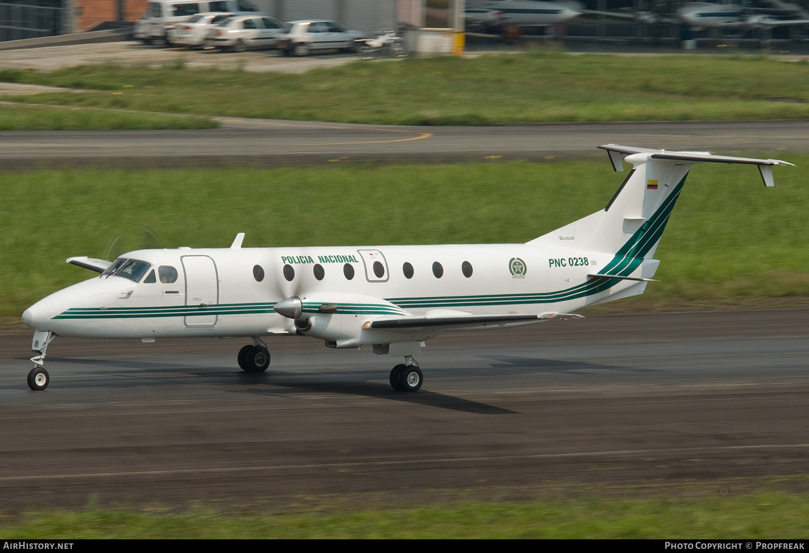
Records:
[[[764,188],[752,167],[695,167],[636,305],[805,297],[804,175],[776,167]],[[0,173],[0,321],[91,276],[70,255],[227,247],[242,231],[245,247],[521,243],[603,209],[624,178],[606,161]]]

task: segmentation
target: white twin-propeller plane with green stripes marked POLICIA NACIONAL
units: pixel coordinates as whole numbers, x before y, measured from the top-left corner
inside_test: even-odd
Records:
[[[54,336],[83,338],[252,337],[239,366],[269,365],[262,337],[311,336],[329,348],[370,345],[404,357],[391,386],[416,391],[413,356],[426,340],[455,329],[506,328],[564,317],[584,306],[646,289],[671,209],[694,163],[751,163],[773,186],[777,159],[733,158],[609,144],[612,167],[633,171],[607,206],[524,244],[138,250],[112,263],[71,257],[100,272],[36,302],[23,313],[33,327],[32,390],[49,375]]]

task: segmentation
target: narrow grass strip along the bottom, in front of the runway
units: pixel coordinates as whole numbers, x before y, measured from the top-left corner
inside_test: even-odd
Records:
[[[259,511],[256,513],[256,511]],[[87,538],[716,538],[802,539],[809,496],[572,499],[304,513],[36,513],[0,522],[4,539]]]

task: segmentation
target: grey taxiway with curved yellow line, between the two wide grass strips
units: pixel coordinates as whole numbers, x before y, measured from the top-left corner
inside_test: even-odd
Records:
[[[607,159],[600,144],[780,158],[809,150],[809,121],[403,127],[222,118],[221,129],[0,132],[6,169],[260,167]]]

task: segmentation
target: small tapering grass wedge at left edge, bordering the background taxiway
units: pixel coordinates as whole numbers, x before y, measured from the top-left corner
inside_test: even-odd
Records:
[[[214,129],[218,126],[217,121],[204,116],[0,104],[0,131]]]

